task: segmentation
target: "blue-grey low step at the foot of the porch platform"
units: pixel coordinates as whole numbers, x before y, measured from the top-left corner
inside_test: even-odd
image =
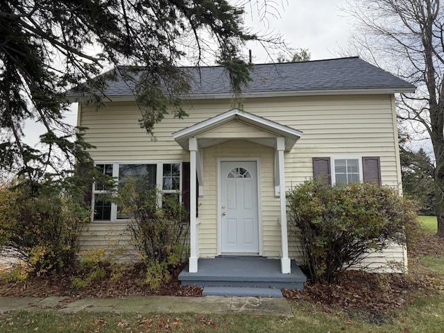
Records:
[[[282,298],[280,289],[253,287],[204,287],[203,296],[252,296]]]

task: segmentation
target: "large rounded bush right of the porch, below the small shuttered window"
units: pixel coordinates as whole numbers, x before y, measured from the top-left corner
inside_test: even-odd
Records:
[[[336,274],[358,264],[368,250],[389,241],[410,243],[418,230],[416,208],[388,187],[355,182],[325,185],[306,180],[287,193],[290,223],[297,228],[313,282],[332,283]],[[405,232],[404,232],[405,230]]]

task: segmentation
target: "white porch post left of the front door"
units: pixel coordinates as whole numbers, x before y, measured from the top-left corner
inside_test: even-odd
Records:
[[[197,273],[198,233],[196,223],[196,171],[198,145],[195,137],[189,138],[189,273]]]

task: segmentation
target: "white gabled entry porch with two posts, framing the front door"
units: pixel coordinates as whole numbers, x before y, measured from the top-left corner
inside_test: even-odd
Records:
[[[280,264],[277,272],[291,274],[284,153],[301,135],[237,109],[173,133],[173,139],[189,151],[187,272],[200,276],[199,265],[205,262],[201,256],[254,254],[279,257],[273,261]],[[271,210],[265,212],[264,207]],[[245,277],[240,279],[228,282],[246,282]]]

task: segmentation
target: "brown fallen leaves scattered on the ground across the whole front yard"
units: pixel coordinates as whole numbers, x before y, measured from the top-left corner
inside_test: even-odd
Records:
[[[398,274],[376,274],[364,273],[360,271],[347,271],[336,281],[336,284],[307,284],[305,291],[284,290],[284,296],[288,300],[304,300],[309,304],[300,303],[300,310],[317,313],[323,311],[327,314],[341,314],[345,311],[354,311],[362,314],[369,321],[379,322],[387,311],[403,307],[411,301],[411,291],[418,288],[439,289],[443,286],[440,278],[427,272],[416,271],[416,260],[422,255],[443,255],[444,239],[433,235],[425,235],[416,244],[416,247],[409,249],[409,275]],[[0,279],[1,296],[68,296],[64,302],[71,302],[78,298],[106,298],[125,296],[201,296],[200,287],[182,287],[177,279],[180,268],[174,273],[170,282],[153,291],[148,287],[139,287],[135,281],[140,278],[141,267],[134,266],[124,270],[117,280],[112,280],[111,272],[101,281],[94,282],[89,287],[75,289],[71,287],[71,278],[75,276],[76,269],[67,271],[64,274],[53,274],[46,277],[30,278],[26,283],[11,284]],[[32,306],[32,305],[31,305]],[[435,316],[438,320],[439,315]],[[140,332],[155,332],[164,330],[174,330],[182,327],[181,318],[137,318]],[[402,323],[402,319],[400,320]],[[14,325],[10,321],[5,325]],[[22,324],[20,324],[22,325]],[[30,329],[31,323],[24,323],[22,330]],[[71,324],[72,330],[77,330],[77,324]],[[91,332],[103,327],[101,321],[90,323]],[[119,321],[116,330],[127,330],[128,322]],[[348,323],[341,325],[348,327]],[[212,327],[223,330],[207,316],[200,316],[196,325],[196,330],[204,330],[205,327]],[[36,327],[37,328],[37,327]],[[225,327],[226,328],[226,327]],[[409,328],[404,330],[409,333]]]

